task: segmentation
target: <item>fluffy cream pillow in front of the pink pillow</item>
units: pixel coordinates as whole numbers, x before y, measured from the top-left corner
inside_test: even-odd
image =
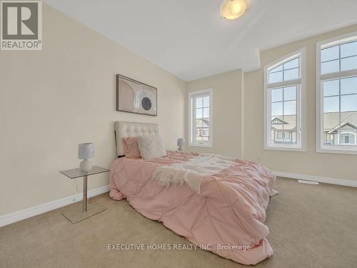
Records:
[[[166,150],[159,135],[138,137],[138,146],[143,159],[154,159],[166,156]]]

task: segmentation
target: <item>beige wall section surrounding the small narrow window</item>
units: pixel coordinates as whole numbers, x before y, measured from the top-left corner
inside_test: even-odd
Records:
[[[242,157],[243,72],[241,69],[189,81],[187,91],[213,89],[213,147],[187,147],[190,151]],[[188,110],[188,93],[186,96]],[[186,129],[188,129],[186,112]],[[186,131],[186,144],[188,144]]]

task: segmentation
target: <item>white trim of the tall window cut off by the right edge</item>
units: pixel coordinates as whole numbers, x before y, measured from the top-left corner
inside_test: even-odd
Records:
[[[328,146],[321,143],[323,135],[323,116],[321,116],[321,107],[323,94],[321,94],[321,81],[324,79],[339,79],[347,76],[357,76],[357,69],[340,71],[332,74],[321,75],[321,48],[325,49],[328,46],[336,46],[337,44],[348,43],[357,40],[357,31],[335,36],[331,39],[326,39],[316,43],[316,152],[328,154],[357,154],[356,147],[348,147],[348,145]],[[325,47],[326,46],[326,47]]]

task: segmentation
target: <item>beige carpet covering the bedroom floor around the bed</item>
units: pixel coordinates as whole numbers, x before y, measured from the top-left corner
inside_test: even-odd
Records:
[[[266,224],[274,249],[256,267],[357,267],[357,189],[279,178]],[[188,244],[108,194],[107,207],[71,224],[59,209],[0,228],[0,267],[245,267],[201,249],[116,251],[108,244]]]

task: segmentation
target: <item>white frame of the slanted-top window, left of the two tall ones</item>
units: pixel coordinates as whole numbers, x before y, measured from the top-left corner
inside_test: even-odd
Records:
[[[299,79],[268,83],[268,71],[299,58]],[[273,144],[271,142],[271,89],[296,86],[296,129],[300,125],[300,133],[296,131],[296,144]],[[300,117],[300,119],[298,119]],[[266,150],[306,152],[306,47],[282,56],[271,64],[264,66],[264,141]]]

